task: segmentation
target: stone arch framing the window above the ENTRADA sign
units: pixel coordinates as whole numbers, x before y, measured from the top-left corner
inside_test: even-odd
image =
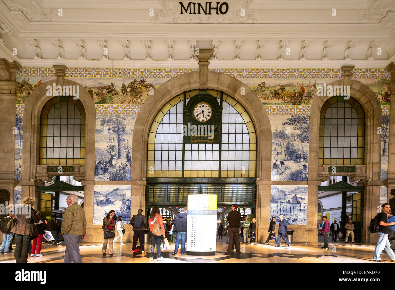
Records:
[[[88,91],[72,80],[58,77],[56,80],[49,80],[38,86],[28,97],[24,106],[23,115],[23,170],[22,181],[36,179],[37,165],[39,160],[39,144],[40,144],[40,115],[45,103],[53,96],[47,96],[47,86],[79,86],[79,100],[83,104],[86,113],[85,126],[85,165],[81,165],[83,176],[79,176],[80,180],[94,180],[94,148],[95,148],[95,127],[96,127],[96,109],[92,97]],[[36,183],[30,186],[29,192],[26,187],[22,188],[23,197],[35,197]]]

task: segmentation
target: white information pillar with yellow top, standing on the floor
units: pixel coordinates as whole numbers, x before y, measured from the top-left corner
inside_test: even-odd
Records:
[[[188,195],[188,255],[215,255],[217,195]]]

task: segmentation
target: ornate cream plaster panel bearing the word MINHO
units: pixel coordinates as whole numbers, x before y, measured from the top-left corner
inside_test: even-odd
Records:
[[[210,6],[206,4],[204,7],[205,2],[200,2],[202,6],[199,6],[199,2],[163,0],[161,3],[163,10],[154,11],[154,15],[151,16],[152,23],[255,23],[257,21],[255,11],[247,10],[252,1],[207,2]],[[223,3],[228,7],[222,6]]]

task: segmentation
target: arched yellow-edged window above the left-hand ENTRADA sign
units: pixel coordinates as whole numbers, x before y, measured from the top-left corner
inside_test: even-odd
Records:
[[[42,164],[85,164],[85,109],[79,99],[53,97],[41,110]]]

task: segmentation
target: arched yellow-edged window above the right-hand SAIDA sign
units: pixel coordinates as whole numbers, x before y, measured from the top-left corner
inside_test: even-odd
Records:
[[[331,97],[320,112],[320,165],[362,165],[365,113],[350,97]]]

